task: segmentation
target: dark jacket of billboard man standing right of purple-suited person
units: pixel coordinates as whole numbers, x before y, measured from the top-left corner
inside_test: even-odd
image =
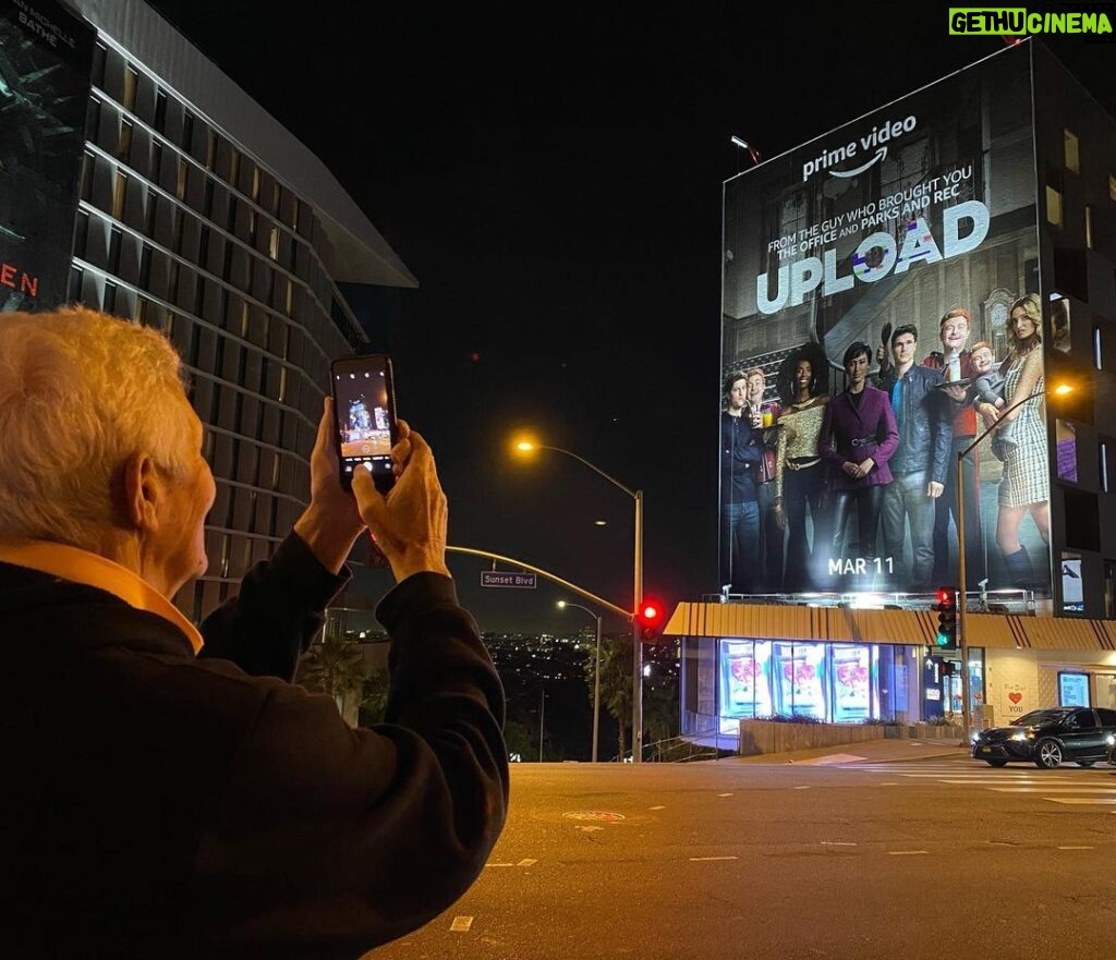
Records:
[[[903,374],[903,411],[895,411],[899,445],[892,454],[892,476],[925,470],[936,483],[945,482],[950,444],[953,441],[952,409],[949,396],[937,390],[942,372],[913,365]],[[895,386],[895,367],[879,378],[879,388],[888,400]]]

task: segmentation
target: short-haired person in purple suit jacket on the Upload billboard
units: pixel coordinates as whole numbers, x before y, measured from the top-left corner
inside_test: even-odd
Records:
[[[892,482],[887,461],[898,445],[895,414],[887,394],[868,383],[872,347],[855,343],[845,351],[848,386],[827,405],[818,438],[818,453],[831,464],[834,491],[834,540],[829,569],[856,574],[876,558],[876,532],[884,490]],[[857,512],[856,563],[845,559],[845,532],[853,506]],[[849,557],[849,560],[853,560]],[[884,572],[886,573],[886,570]]]

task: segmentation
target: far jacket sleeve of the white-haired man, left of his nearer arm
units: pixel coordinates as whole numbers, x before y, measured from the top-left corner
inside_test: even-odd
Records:
[[[231,660],[253,676],[294,680],[299,655],[325,623],[326,605],[348,583],[334,576],[297,534],[252,567],[240,592],[202,623],[199,656]]]

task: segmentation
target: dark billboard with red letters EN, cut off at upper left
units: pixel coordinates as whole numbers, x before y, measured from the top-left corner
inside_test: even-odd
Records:
[[[66,299],[95,36],[52,0],[0,0],[0,311]]]

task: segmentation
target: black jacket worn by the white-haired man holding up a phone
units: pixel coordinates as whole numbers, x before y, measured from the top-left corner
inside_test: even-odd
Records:
[[[350,729],[278,679],[341,583],[289,537],[195,657],[0,564],[6,956],[355,960],[464,892],[507,808],[499,678],[452,582],[416,574],[377,611],[388,723]]]

